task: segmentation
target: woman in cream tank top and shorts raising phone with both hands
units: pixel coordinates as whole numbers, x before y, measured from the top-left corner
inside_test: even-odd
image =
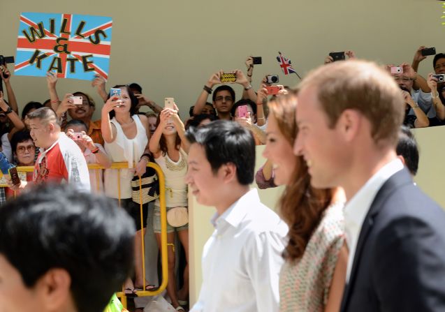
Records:
[[[164,108],[159,114],[156,130],[149,142],[149,149],[152,151],[154,161],[162,168],[166,178],[166,205],[167,211],[175,207],[187,207],[187,184],[185,174],[187,174],[187,153],[189,152],[189,142],[185,138],[184,124],[175,109]],[[161,246],[159,201],[154,203],[153,228],[156,234],[158,246]],[[174,228],[167,225],[167,243],[175,244],[175,231],[184,247],[187,266],[184,269],[184,287],[176,292],[175,278],[175,252],[173,248],[168,248],[168,285],[167,293],[172,305],[177,311],[184,311],[178,299],[186,299],[189,295],[189,226],[188,224]],[[174,246],[174,245],[173,245]],[[178,298],[179,297],[179,298]]]

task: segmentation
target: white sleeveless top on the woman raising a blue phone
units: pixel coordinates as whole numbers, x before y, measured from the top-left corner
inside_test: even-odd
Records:
[[[113,142],[105,142],[105,151],[110,156],[113,163],[128,161],[129,168],[134,168],[133,162],[138,163],[143,156],[145,147],[147,147],[147,132],[137,114],[134,114],[133,120],[136,124],[136,136],[133,139],[126,138],[121,125],[116,117],[111,119],[112,124],[116,126],[116,138]],[[118,198],[118,178],[117,169],[105,169],[103,180],[105,186],[105,195],[109,198]],[[131,179],[133,179],[134,170],[120,170],[120,198],[131,198]]]

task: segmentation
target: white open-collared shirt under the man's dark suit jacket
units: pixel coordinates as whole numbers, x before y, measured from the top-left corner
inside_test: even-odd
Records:
[[[348,267],[346,270],[346,283],[349,282],[353,265],[354,254],[356,253],[358,236],[363,225],[363,221],[369,211],[372,201],[377,192],[395,172],[403,169],[402,161],[395,158],[377,171],[371,179],[367,180],[364,186],[358,190],[356,195],[346,203],[344,207],[344,225],[346,242],[349,248]]]

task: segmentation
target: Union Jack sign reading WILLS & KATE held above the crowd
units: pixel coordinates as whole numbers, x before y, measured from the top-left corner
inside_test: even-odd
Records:
[[[108,79],[111,17],[22,13],[17,38],[15,75],[92,80]]]

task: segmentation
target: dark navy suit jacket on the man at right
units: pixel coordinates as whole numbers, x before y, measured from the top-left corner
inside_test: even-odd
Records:
[[[407,170],[386,181],[363,221],[341,311],[445,311],[445,211]]]

